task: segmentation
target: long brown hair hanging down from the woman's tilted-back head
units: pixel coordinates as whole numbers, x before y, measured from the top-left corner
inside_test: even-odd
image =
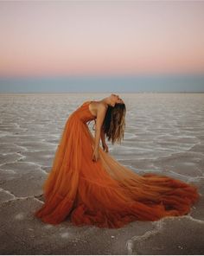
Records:
[[[112,144],[115,142],[121,144],[121,140],[124,139],[125,113],[124,103],[116,103],[115,106],[108,106],[107,108],[102,130]]]

